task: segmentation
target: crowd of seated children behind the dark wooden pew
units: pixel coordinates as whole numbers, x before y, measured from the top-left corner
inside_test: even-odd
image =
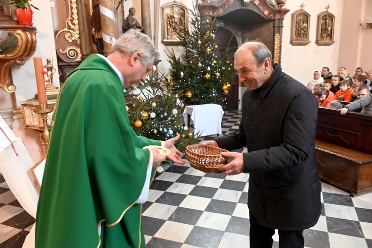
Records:
[[[313,74],[307,87],[318,98],[319,107],[339,109],[341,115],[348,111],[372,115],[372,70],[358,67],[351,77],[345,67],[339,68],[338,75],[323,67]]]

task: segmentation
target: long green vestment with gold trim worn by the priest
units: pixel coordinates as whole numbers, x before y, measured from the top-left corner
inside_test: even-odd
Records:
[[[146,145],[161,142],[134,133],[118,74],[89,56],[70,73],[57,102],[36,248],[146,247],[135,203],[149,166]]]

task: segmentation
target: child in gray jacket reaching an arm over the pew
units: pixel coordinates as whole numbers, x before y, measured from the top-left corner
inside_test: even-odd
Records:
[[[359,108],[362,108],[362,114],[372,115],[372,95],[370,94],[368,85],[361,84],[356,88],[356,91],[358,100],[340,109],[341,115],[345,115],[348,111],[355,111]]]

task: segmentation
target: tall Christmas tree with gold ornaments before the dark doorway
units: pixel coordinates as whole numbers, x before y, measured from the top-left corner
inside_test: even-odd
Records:
[[[227,47],[219,53],[214,35],[218,20],[200,15],[198,0],[195,6],[193,11],[190,10],[192,27],[175,31],[185,51],[181,57],[173,50],[169,51],[170,74],[175,90],[184,93],[185,105],[216,103],[224,108],[235,77],[232,64],[234,48]]]

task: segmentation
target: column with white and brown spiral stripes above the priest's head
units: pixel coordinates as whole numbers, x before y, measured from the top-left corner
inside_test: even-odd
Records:
[[[101,25],[102,25],[102,39],[104,56],[108,56],[112,45],[116,42],[118,37],[115,14],[114,14],[114,1],[113,0],[99,0]]]

